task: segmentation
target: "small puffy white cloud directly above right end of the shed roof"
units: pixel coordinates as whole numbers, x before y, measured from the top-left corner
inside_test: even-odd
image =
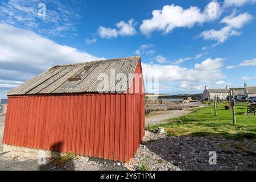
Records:
[[[134,22],[134,19],[130,19],[128,23],[124,21],[120,21],[119,23],[115,24],[118,30],[116,28],[106,28],[106,27],[100,26],[98,28],[98,34],[100,34],[101,38],[104,38],[104,39],[117,38],[119,35],[133,36],[137,34],[137,31],[135,30],[135,25],[136,23]]]

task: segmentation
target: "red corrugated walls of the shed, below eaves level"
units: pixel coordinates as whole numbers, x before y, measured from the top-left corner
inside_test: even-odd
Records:
[[[144,96],[13,96],[3,143],[129,162],[143,134]]]

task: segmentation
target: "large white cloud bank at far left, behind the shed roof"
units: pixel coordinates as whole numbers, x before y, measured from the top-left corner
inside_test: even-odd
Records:
[[[16,86],[53,65],[99,60],[34,32],[0,23],[0,84]]]

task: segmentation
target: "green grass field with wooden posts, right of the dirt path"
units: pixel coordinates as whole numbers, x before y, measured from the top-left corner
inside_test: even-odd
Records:
[[[229,139],[256,139],[256,116],[245,115],[246,104],[236,106],[237,125],[233,125],[232,110],[225,110],[225,104],[219,105],[217,116],[214,107],[194,109],[192,113],[181,118],[170,119],[170,123],[151,126],[156,130],[164,127],[169,136],[214,136]],[[181,123],[178,121],[181,119]]]

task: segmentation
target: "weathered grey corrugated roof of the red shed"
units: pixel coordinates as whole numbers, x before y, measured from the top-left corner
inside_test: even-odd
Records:
[[[104,73],[112,85],[102,86],[100,91],[125,92],[132,80],[130,74],[134,73],[139,60],[140,57],[136,56],[55,66],[10,90],[7,95],[98,92],[102,83],[98,78]],[[117,78],[115,82],[110,81],[110,72],[125,74],[127,82],[120,82]]]

